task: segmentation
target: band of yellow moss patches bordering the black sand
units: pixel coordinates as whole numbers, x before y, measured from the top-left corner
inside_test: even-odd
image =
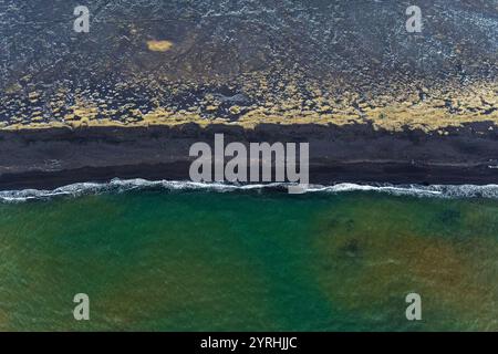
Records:
[[[169,41],[148,41],[153,51],[166,51],[174,44]],[[158,96],[164,93],[164,86],[151,83],[149,90],[158,96],[149,97],[148,107],[138,107],[137,103],[125,101],[120,93],[126,90],[126,84],[117,84],[112,97],[103,97],[98,92],[83,93],[76,90],[75,103],[68,107],[66,93],[61,91],[50,103],[52,117],[49,123],[42,123],[41,112],[25,112],[24,103],[14,102],[21,107],[0,129],[30,128],[31,125],[46,127],[65,125],[82,126],[149,126],[149,125],[180,125],[195,123],[200,126],[209,124],[240,125],[253,128],[259,124],[318,124],[318,125],[350,125],[373,124],[375,129],[403,131],[423,129],[425,132],[440,132],[446,135],[447,127],[458,127],[465,123],[489,122],[486,128],[498,126],[498,83],[483,82],[468,86],[445,84],[426,88],[413,84],[395,87],[385,92],[359,94],[353,91],[334,91],[344,86],[334,79],[326,82],[301,80],[299,74],[282,75],[280,82],[268,80],[268,73],[255,73],[239,77],[241,83],[234,92],[242,93],[250,98],[251,105],[234,105],[228,108],[232,115],[240,115],[231,122],[226,115],[222,100],[212,92],[204,97],[197,97],[188,105],[177,105],[175,102],[162,103]],[[304,79],[302,79],[304,80]],[[190,90],[199,87],[193,83],[169,83],[167,90],[170,95],[179,96]],[[283,84],[286,83],[286,84]],[[215,85],[209,82],[207,85]],[[421,95],[424,93],[424,95]],[[40,94],[31,92],[29,98],[38,100]],[[41,96],[41,95],[40,95]],[[120,107],[111,108],[111,103],[117,100],[124,103]],[[152,108],[151,108],[152,107]],[[38,122],[37,122],[38,121]],[[39,126],[38,125],[38,126]]]

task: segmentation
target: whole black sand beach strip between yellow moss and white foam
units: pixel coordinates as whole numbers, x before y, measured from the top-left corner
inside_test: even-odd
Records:
[[[490,185],[498,181],[498,134],[488,123],[449,129],[390,132],[371,125],[187,124],[178,127],[0,132],[0,190],[54,189],[113,178],[189,180],[191,144],[309,142],[310,183],[333,185]]]

